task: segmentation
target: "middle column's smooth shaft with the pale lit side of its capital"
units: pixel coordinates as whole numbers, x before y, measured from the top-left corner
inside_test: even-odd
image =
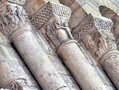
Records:
[[[81,51],[79,44],[75,41],[68,28],[68,20],[71,11],[63,5],[53,4],[53,15],[55,28],[55,36],[60,42],[57,54],[62,58],[67,68],[71,71],[75,80],[84,90],[115,90],[113,86],[106,85]],[[47,27],[47,30],[52,28]],[[93,77],[93,78],[92,78]]]

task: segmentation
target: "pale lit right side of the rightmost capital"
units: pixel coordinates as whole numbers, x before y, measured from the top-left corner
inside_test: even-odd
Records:
[[[98,20],[97,20],[98,19]],[[109,20],[102,20],[100,18],[95,18],[95,25],[98,28],[99,33],[102,35],[100,38],[101,43],[99,44],[100,57],[108,51],[117,49],[115,44],[115,38],[111,33],[111,27],[113,25]],[[109,25],[107,23],[110,23]],[[104,26],[103,28],[100,26]],[[98,55],[99,56],[99,55]]]

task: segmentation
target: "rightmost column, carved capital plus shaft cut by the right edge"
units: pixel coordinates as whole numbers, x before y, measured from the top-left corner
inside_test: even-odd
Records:
[[[96,23],[98,22],[98,23]],[[95,24],[96,23],[96,24]],[[74,38],[100,63],[107,75],[118,89],[118,50],[114,43],[114,37],[109,28],[98,30],[97,26],[112,26],[101,19],[94,19],[88,15],[79,26],[73,29]],[[104,27],[103,27],[104,28]],[[108,29],[108,30],[107,30]],[[109,32],[109,33],[108,33]],[[102,34],[103,33],[103,34]],[[111,40],[112,39],[112,40]]]

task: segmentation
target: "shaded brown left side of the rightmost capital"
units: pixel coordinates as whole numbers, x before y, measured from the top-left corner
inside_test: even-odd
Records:
[[[96,31],[93,17],[88,15],[80,24],[81,27],[73,29],[73,37],[80,43],[82,43],[91,55],[98,58],[97,51],[100,43],[100,33]],[[89,43],[87,43],[89,42]]]

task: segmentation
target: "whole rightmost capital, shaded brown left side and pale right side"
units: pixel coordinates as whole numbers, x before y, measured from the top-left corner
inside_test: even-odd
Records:
[[[111,21],[105,21],[100,18],[93,18],[88,15],[83,22],[80,23],[78,29],[73,30],[73,36],[77,39],[85,49],[95,59],[100,59],[107,52],[117,49],[111,33]]]

